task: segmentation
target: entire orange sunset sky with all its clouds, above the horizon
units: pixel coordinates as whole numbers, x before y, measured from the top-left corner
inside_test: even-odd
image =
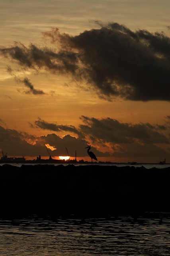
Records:
[[[1,0],[0,151],[170,162],[169,0]]]

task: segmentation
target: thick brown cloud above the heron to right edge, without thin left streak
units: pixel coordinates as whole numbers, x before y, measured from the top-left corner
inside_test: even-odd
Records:
[[[82,116],[84,124],[80,124],[83,134],[90,134],[92,138],[98,138],[103,142],[113,144],[159,144],[170,142],[169,138],[162,133],[162,126],[151,125],[149,123],[121,123],[112,118],[89,118]],[[169,128],[164,126],[164,131],[168,133]]]

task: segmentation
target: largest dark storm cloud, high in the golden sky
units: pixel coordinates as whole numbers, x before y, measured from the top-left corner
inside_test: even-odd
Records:
[[[57,28],[44,32],[55,48],[16,43],[0,52],[24,69],[70,74],[108,100],[169,101],[170,38],[163,32],[96,23],[101,28],[78,36],[61,34]]]

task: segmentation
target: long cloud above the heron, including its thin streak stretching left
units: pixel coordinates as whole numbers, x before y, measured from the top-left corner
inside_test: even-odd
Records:
[[[58,125],[48,123],[41,118],[35,120],[34,124],[30,124],[32,128],[40,128],[54,132],[71,132],[77,134],[79,138],[90,138],[96,143],[114,144],[169,144],[169,125],[151,125],[149,123],[121,123],[112,118],[89,118],[81,116],[80,120],[84,124],[80,124],[78,128],[75,126]]]

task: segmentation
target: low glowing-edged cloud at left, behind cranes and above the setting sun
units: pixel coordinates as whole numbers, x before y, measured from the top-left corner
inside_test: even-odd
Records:
[[[76,138],[67,134],[60,137],[57,134],[47,134],[47,136],[33,136],[25,132],[20,132],[14,129],[3,128],[0,126],[0,150],[7,152],[8,156],[23,156],[27,159],[28,156],[47,156],[47,151],[44,144],[49,144],[55,150],[49,152],[51,156],[65,156],[66,148],[70,156],[75,156],[77,151],[77,157],[87,156],[87,151],[84,149],[87,146],[87,141],[81,138]],[[96,148],[93,151],[97,155],[109,155],[109,153],[102,153]]]

